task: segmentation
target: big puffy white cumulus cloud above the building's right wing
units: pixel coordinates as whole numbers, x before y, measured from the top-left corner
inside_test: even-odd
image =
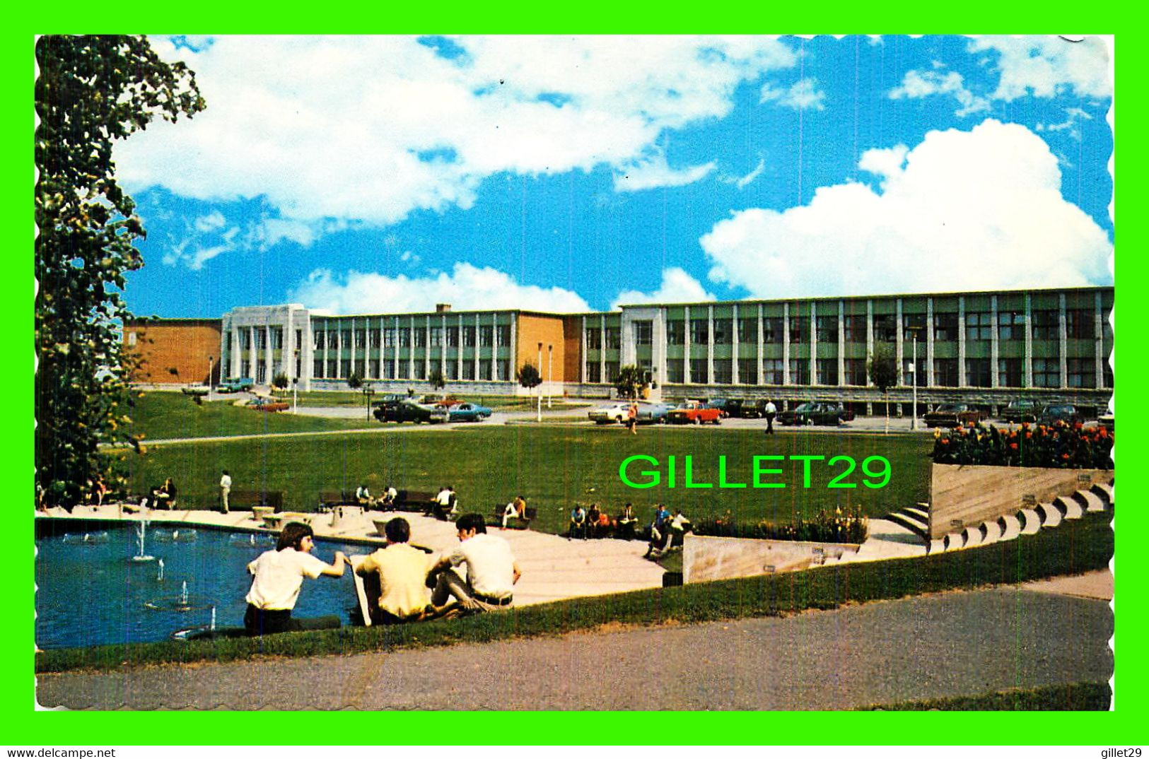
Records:
[[[1062,198],[1057,160],[1024,126],[932,131],[859,168],[880,192],[820,187],[808,206],[716,224],[700,240],[710,279],[761,297],[1111,281],[1105,232]]]

